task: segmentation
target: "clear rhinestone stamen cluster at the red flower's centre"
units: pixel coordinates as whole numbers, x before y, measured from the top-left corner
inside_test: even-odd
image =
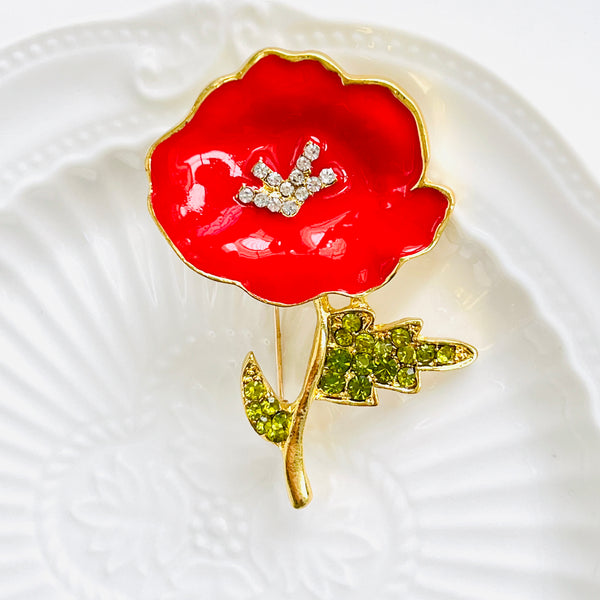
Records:
[[[320,153],[321,148],[315,142],[307,142],[287,179],[270,169],[262,159],[259,160],[252,167],[252,174],[262,180],[262,187],[243,185],[237,199],[243,204],[253,203],[259,208],[268,208],[271,212],[281,213],[285,217],[297,215],[309,196],[337,181],[331,168],[322,169],[318,177],[312,174],[312,161],[316,160]]]

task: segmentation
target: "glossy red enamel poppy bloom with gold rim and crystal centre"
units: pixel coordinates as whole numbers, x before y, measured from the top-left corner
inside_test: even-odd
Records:
[[[433,246],[452,197],[426,162],[421,117],[396,87],[265,50],[150,150],[149,205],[189,266],[294,305],[364,294]]]

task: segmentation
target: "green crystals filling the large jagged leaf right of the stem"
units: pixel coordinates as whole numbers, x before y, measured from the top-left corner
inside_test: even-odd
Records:
[[[418,370],[456,362],[456,348],[420,340],[418,322],[371,327],[372,316],[352,310],[329,317],[325,366],[319,389],[328,397],[373,403],[373,387],[415,391]]]

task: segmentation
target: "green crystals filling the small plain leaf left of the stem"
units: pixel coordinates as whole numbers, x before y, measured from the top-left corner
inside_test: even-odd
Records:
[[[246,415],[256,433],[275,444],[285,442],[290,432],[291,414],[282,409],[252,366],[244,371],[242,387]]]

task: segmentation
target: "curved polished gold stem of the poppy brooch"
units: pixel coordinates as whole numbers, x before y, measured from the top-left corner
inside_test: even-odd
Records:
[[[296,406],[290,427],[290,434],[283,448],[285,475],[290,499],[294,508],[306,506],[312,498],[310,482],[304,471],[302,438],[308,411],[315,397],[317,383],[325,361],[329,302],[325,298],[318,298],[314,304],[317,312],[317,326],[312,352],[306,369],[302,391],[294,403]]]

